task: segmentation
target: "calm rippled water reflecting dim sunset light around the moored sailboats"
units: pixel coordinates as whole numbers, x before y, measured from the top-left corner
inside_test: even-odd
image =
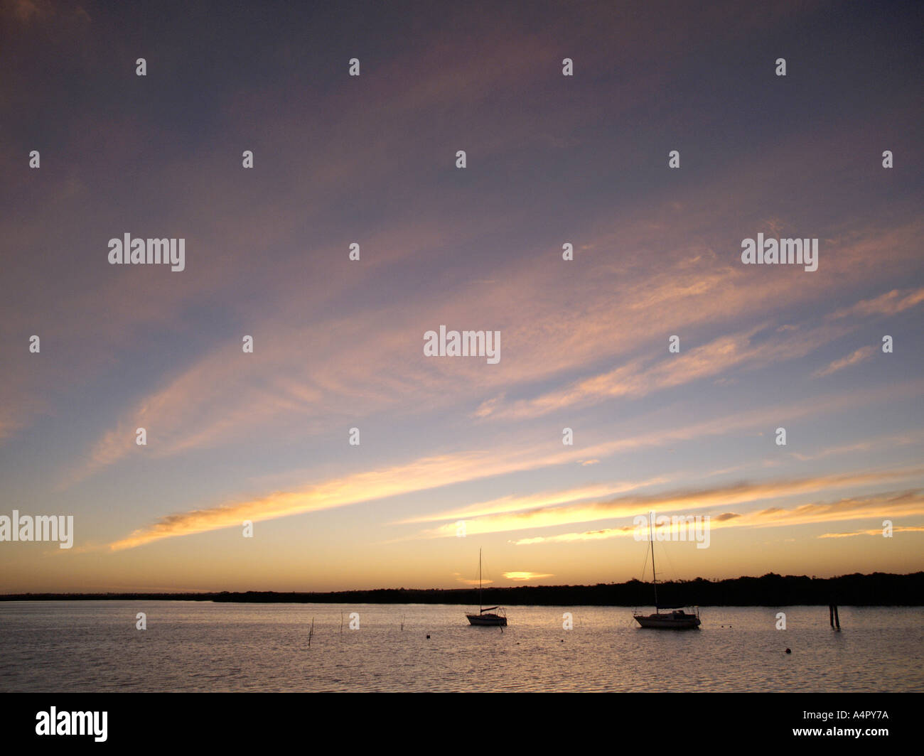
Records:
[[[690,632],[635,628],[625,608],[512,606],[502,633],[468,627],[467,610],[0,603],[0,690],[924,690],[921,608],[845,607],[840,633],[823,606],[707,607]]]

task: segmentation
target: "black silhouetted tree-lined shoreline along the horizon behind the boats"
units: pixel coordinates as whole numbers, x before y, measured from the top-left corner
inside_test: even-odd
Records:
[[[0,601],[213,601],[244,604],[477,604],[477,590],[380,588],[368,591],[214,593],[10,593]],[[485,604],[508,606],[648,606],[651,584],[632,579],[597,585],[485,588]],[[844,606],[924,605],[924,572],[908,575],[874,572],[836,578],[781,576],[724,580],[676,580],[658,583],[661,604],[698,606]]]

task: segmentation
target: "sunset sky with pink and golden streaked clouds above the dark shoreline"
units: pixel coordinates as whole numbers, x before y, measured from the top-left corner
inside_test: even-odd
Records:
[[[0,592],[924,569],[922,17],[5,3]]]

